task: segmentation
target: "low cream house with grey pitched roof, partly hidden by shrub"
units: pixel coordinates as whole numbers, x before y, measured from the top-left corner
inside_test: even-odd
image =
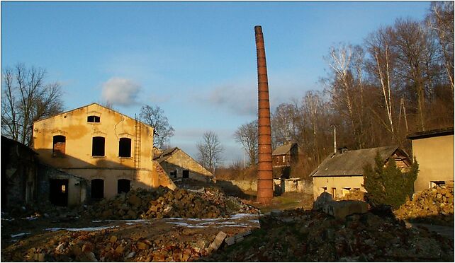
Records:
[[[322,192],[329,192],[332,197],[343,197],[350,189],[360,189],[365,192],[364,167],[375,165],[376,155],[379,153],[381,160],[386,164],[389,158],[394,158],[397,167],[405,170],[410,167],[411,160],[408,154],[398,146],[386,146],[378,148],[366,148],[348,151],[340,149],[325,158],[322,163],[313,170],[313,197],[316,199]]]

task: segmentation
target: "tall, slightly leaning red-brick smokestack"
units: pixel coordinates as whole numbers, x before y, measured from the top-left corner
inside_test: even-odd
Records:
[[[271,167],[271,128],[269,81],[265,59],[264,36],[260,25],[254,27],[257,53],[258,84],[258,168],[257,168],[257,201],[269,204],[274,196]]]

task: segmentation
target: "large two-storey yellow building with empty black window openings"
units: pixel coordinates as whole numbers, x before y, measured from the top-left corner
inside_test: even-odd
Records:
[[[62,171],[49,179],[50,197],[66,199],[68,205],[138,187],[174,188],[169,177],[156,173],[152,145],[152,127],[97,103],[33,126],[33,150],[40,162]]]

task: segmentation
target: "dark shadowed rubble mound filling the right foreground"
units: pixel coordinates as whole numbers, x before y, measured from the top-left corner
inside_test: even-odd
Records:
[[[450,261],[454,243],[426,228],[367,212],[336,219],[320,211],[272,211],[239,244],[204,259],[212,262]]]

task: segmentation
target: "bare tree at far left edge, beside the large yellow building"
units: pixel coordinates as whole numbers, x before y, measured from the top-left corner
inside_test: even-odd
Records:
[[[1,133],[31,146],[33,122],[62,112],[59,83],[45,83],[46,71],[18,64],[3,71]]]

